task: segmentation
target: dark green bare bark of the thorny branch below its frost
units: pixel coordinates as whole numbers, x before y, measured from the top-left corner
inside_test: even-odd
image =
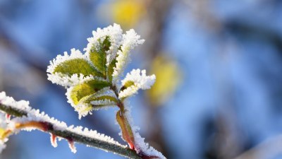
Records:
[[[14,117],[27,116],[27,112],[23,110],[17,110],[16,108],[10,107],[8,105],[3,105],[1,103],[0,103],[0,110],[6,112],[7,114],[11,114]],[[66,139],[67,141],[71,140],[77,143],[85,144],[87,146],[99,148],[104,151],[110,151],[118,155],[122,155],[126,158],[142,159],[139,155],[137,155],[135,151],[131,150],[130,148],[124,148],[123,146],[120,146],[115,143],[109,143],[106,141],[102,141],[100,139],[83,136],[73,131],[55,129],[56,125],[49,122],[45,122],[45,124],[48,125],[46,132],[54,134],[55,136],[59,136],[63,139]]]

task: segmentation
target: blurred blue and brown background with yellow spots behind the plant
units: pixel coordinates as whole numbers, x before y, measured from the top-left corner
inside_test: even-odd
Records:
[[[0,0],[0,91],[51,117],[114,137],[116,109],[78,119],[66,90],[47,81],[57,54],[82,49],[92,30],[118,23],[145,44],[128,69],[155,73],[130,99],[135,124],[173,159],[282,158],[282,1]],[[11,136],[1,159],[122,158],[49,134]]]

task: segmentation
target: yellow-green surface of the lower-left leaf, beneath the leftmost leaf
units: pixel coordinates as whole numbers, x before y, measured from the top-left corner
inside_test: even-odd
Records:
[[[98,90],[102,88],[108,87],[110,84],[106,81],[101,81],[98,79],[94,79],[92,81],[87,81],[85,83],[74,86],[71,90],[71,100],[75,105],[78,105],[82,98],[87,96],[91,96],[96,93]]]

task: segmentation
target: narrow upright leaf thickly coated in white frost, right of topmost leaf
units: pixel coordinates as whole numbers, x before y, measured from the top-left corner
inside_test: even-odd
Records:
[[[128,62],[129,52],[134,49],[137,45],[142,45],[145,40],[140,40],[140,35],[135,33],[135,30],[130,29],[123,35],[123,45],[121,45],[121,50],[118,50],[118,57],[116,57],[116,67],[114,68],[113,80],[116,82],[118,76],[123,73],[123,69]]]

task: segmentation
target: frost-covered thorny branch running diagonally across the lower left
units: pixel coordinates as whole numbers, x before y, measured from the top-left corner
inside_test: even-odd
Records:
[[[104,151],[110,151],[126,158],[140,159],[140,156],[127,146],[122,146],[111,137],[99,134],[97,131],[82,129],[82,126],[66,126],[64,122],[59,122],[54,118],[48,117],[47,114],[39,113],[33,110],[23,100],[16,102],[13,98],[6,97],[5,93],[0,93],[0,110],[13,116],[8,119],[6,124],[6,133],[1,134],[1,138],[8,139],[8,135],[16,133],[20,129],[31,130],[39,129],[51,134],[51,143],[56,147],[56,138],[66,139],[72,151],[75,152],[74,143],[82,143],[87,146],[99,148]],[[0,119],[0,123],[7,119]],[[1,128],[3,129],[3,128]],[[4,146],[0,146],[4,147]]]

